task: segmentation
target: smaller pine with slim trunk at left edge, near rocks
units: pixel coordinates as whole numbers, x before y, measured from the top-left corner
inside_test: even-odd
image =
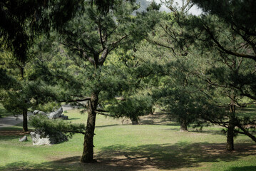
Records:
[[[42,40],[46,40],[46,37]],[[1,87],[0,99],[6,110],[14,115],[23,115],[23,130],[28,131],[28,111],[39,105],[58,99],[56,84],[49,83],[44,70],[39,65],[39,56],[49,48],[39,48],[39,40],[30,49],[26,63],[17,61],[12,53],[1,51],[1,71],[4,71],[4,86]],[[45,43],[44,41],[43,43]]]

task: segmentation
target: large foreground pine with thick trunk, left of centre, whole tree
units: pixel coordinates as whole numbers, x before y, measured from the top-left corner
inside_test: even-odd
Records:
[[[86,2],[84,13],[68,22],[61,32],[61,43],[78,56],[78,61],[81,61],[78,67],[81,67],[81,71],[85,71],[80,77],[85,81],[86,86],[79,90],[78,95],[70,97],[73,99],[68,100],[89,102],[81,162],[94,161],[93,136],[100,97],[111,95],[108,92],[118,88],[115,87],[115,80],[109,80],[114,76],[109,76],[107,73],[108,66],[104,66],[106,58],[119,46],[132,48],[132,43],[143,38],[155,21],[150,15],[132,16],[130,14],[136,6],[124,1],[117,2],[119,3],[117,8],[107,14],[97,11],[94,5],[88,6]],[[114,94],[111,97],[114,98]]]

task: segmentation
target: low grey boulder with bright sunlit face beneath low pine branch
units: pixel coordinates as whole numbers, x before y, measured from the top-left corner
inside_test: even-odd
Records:
[[[33,145],[53,145],[68,140],[66,135],[61,132],[56,132],[53,135],[46,135],[41,130],[36,130],[30,133]]]

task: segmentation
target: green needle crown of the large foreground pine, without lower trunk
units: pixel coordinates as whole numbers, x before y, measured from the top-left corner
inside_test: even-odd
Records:
[[[122,1],[116,10],[104,14],[96,6],[86,6],[83,14],[63,27],[59,39],[73,63],[66,63],[68,72],[63,72],[66,68],[58,64],[54,65],[58,66],[55,70],[60,71],[60,75],[70,74],[81,83],[81,87],[75,88],[68,87],[73,85],[71,81],[61,83],[66,89],[65,100],[76,101],[96,93],[99,103],[103,103],[132,85],[128,81],[130,74],[126,76],[126,71],[115,61],[116,51],[133,48],[158,21],[155,11],[133,16],[135,8],[135,4]],[[61,58],[67,57],[62,55]]]

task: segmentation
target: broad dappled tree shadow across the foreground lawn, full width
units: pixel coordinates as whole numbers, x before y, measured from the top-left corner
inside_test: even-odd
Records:
[[[256,155],[256,145],[237,144],[234,152],[225,150],[225,143],[210,144],[185,142],[171,144],[140,145],[127,147],[111,145],[96,153],[96,163],[81,164],[81,156],[61,158],[51,162],[14,162],[0,170],[174,170],[200,167],[202,162],[231,162],[242,157]],[[232,167],[237,170],[254,170],[255,167]]]

